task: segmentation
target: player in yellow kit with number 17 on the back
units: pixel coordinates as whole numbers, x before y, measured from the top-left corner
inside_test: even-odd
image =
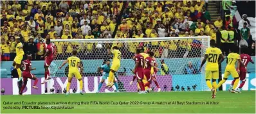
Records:
[[[221,80],[219,82],[219,84],[217,85],[217,88],[219,88],[219,86],[223,85],[223,83],[225,83],[226,79],[228,79],[228,76],[231,76],[234,78],[235,82],[233,83],[233,88],[232,88],[232,93],[237,93],[237,91],[235,90],[235,88],[237,87],[238,83],[239,83],[239,74],[237,73],[237,70],[235,69],[235,64],[237,63],[237,61],[239,61],[240,65],[242,67],[244,67],[246,69],[246,67],[244,66],[244,63],[242,63],[240,55],[235,53],[235,50],[237,48],[233,47],[231,48],[231,52],[230,54],[228,54],[227,60],[226,60],[226,69],[224,72],[224,76],[223,76],[223,80]]]

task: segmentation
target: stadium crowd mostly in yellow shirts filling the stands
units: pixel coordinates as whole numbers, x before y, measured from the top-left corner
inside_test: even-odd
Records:
[[[44,40],[91,38],[157,38],[210,36],[216,40],[221,32],[224,44],[233,44],[235,37],[233,13],[235,1],[228,1],[224,9],[226,19],[211,21],[208,1],[1,1],[1,60],[15,58],[15,38],[20,37],[25,54],[41,60]],[[223,22],[225,21],[225,22]],[[244,22],[247,22],[244,19]],[[250,29],[245,24],[242,39],[255,52],[255,43],[248,40]],[[223,33],[224,31],[224,33]],[[225,34],[226,31],[228,34]],[[227,37],[228,36],[228,37]],[[230,37],[232,36],[232,38]],[[242,41],[244,41],[242,40]],[[96,43],[55,42],[59,58],[78,49],[82,59],[97,59],[106,53],[98,51]],[[122,58],[130,58],[139,46],[149,47],[156,58],[201,56],[200,40],[171,40],[169,42],[113,43],[123,51]],[[244,44],[246,45],[246,44]],[[105,47],[110,46],[104,44]],[[254,49],[254,51],[253,51]],[[252,53],[251,53],[252,54]],[[255,55],[255,53],[254,53]],[[107,57],[106,57],[107,58]],[[65,58],[62,58],[65,59]]]

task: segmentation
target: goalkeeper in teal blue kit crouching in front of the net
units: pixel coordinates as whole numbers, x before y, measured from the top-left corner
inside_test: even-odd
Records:
[[[98,70],[100,70],[100,69],[103,69],[102,80],[100,81],[100,85],[98,86],[98,91],[96,93],[100,92],[100,88],[102,87],[102,84],[104,83],[105,79],[107,79],[107,77],[109,77],[110,60],[107,60],[104,65],[98,67]],[[116,92],[119,92],[118,85],[115,80],[114,80],[114,86],[116,87]]]

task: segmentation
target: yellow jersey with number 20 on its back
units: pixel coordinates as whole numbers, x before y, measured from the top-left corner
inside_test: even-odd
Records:
[[[222,54],[221,49],[217,47],[208,47],[206,53],[208,58],[206,60],[205,70],[217,71],[219,70],[218,58]]]

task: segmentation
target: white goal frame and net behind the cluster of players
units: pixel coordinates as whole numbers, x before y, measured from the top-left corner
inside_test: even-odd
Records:
[[[154,52],[158,63],[156,81],[161,91],[201,91],[208,90],[205,84],[205,69],[199,71],[199,65],[209,46],[210,37],[163,37],[163,38],[104,38],[104,39],[68,39],[51,40],[57,47],[57,56],[50,67],[51,88],[55,93],[65,92],[68,76],[68,65],[57,69],[64,60],[71,56],[73,49],[77,49],[83,71],[83,91],[95,93],[102,79],[102,72],[98,72],[104,60],[111,60],[107,49],[117,46],[122,53],[121,67],[115,73],[120,92],[137,92],[137,83],[129,85],[134,74],[135,51],[139,47]],[[116,88],[105,88],[107,79],[100,92],[114,92]],[[157,91],[154,81],[151,88]],[[77,79],[73,78],[70,93],[80,90]]]

